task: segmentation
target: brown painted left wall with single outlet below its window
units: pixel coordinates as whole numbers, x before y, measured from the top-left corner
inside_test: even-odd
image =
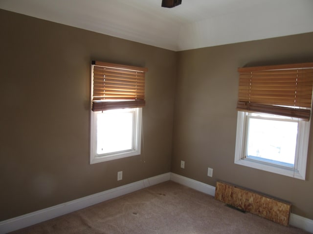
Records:
[[[170,171],[175,52],[3,10],[0,30],[0,220]],[[145,155],[89,165],[91,60],[149,69]]]

